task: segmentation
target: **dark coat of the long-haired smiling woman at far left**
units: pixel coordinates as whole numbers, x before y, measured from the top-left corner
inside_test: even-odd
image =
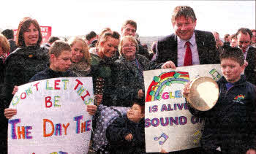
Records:
[[[7,101],[12,100],[15,85],[23,85],[38,72],[46,69],[48,55],[39,46],[18,48],[5,60],[6,74],[4,84],[7,88]]]

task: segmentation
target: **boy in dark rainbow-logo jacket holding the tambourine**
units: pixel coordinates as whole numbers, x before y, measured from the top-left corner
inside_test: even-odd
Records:
[[[206,112],[189,107],[198,117],[206,118],[201,138],[204,153],[256,153],[256,90],[255,85],[246,82],[244,75],[244,54],[236,47],[230,47],[219,55],[223,77],[219,85],[217,104]],[[184,95],[189,93],[189,84]]]

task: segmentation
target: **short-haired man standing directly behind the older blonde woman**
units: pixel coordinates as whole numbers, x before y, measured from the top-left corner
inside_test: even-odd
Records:
[[[121,27],[121,36],[134,36],[137,31],[137,23],[134,20],[126,20],[123,23],[123,26]],[[145,50],[145,48],[139,45],[139,50],[137,51],[138,54],[144,55],[146,58],[149,58],[148,50]]]

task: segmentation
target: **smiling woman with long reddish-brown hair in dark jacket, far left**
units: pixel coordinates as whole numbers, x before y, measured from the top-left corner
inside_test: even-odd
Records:
[[[1,106],[9,107],[12,100],[12,91],[15,85],[23,85],[37,72],[47,67],[48,55],[40,48],[42,34],[37,20],[23,18],[17,31],[18,49],[12,52],[5,60],[6,74],[4,77],[4,98]],[[15,112],[9,109],[8,112]],[[2,112],[1,114],[4,114]],[[6,128],[7,134],[7,128]]]

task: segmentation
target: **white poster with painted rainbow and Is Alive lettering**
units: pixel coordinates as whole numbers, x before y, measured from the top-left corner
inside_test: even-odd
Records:
[[[183,96],[184,85],[196,77],[222,77],[220,65],[158,69],[144,73],[146,152],[186,150],[200,146],[203,119],[195,118]]]

